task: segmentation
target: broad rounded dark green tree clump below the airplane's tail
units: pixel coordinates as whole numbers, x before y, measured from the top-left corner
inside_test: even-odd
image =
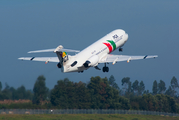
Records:
[[[73,83],[68,78],[59,80],[51,90],[50,101],[62,109],[89,109],[90,94],[81,81]]]

